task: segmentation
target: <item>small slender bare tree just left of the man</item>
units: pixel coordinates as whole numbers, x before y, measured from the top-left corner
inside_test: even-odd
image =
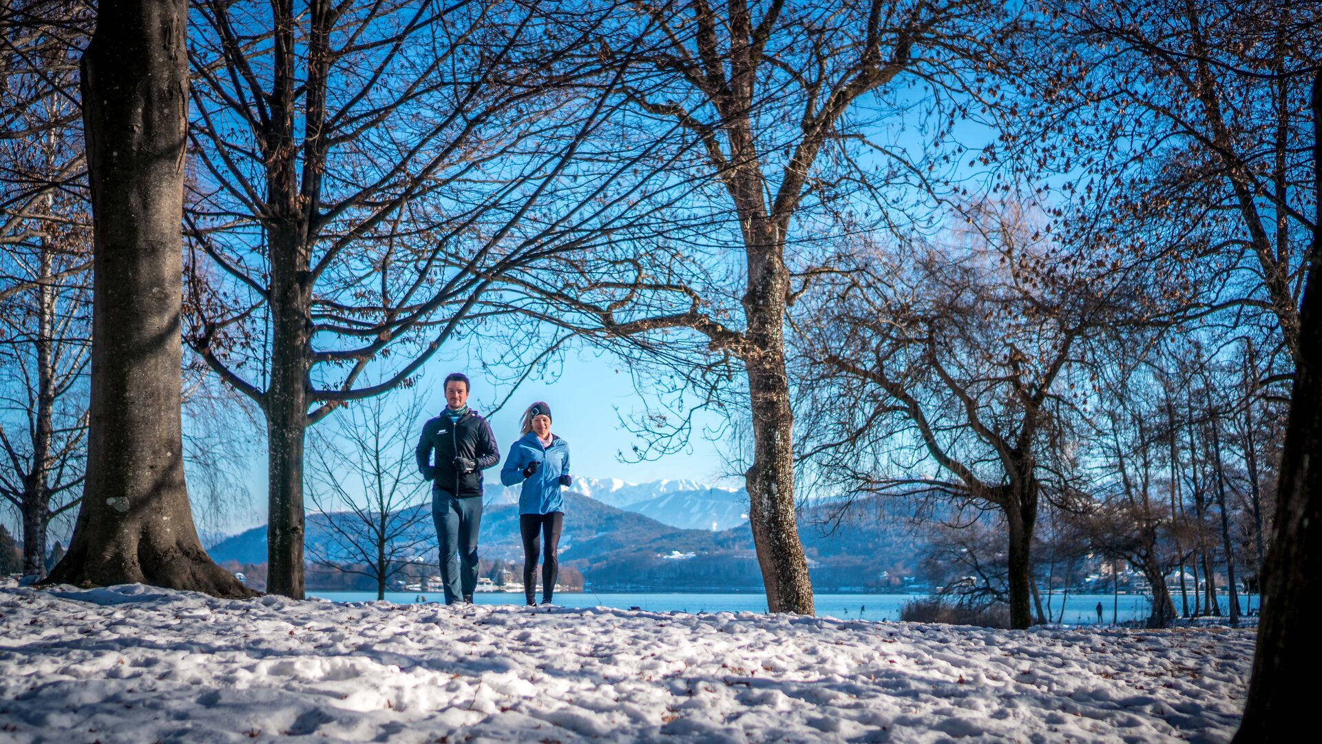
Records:
[[[397,393],[394,397],[399,397]],[[311,446],[312,503],[328,541],[309,545],[312,560],[370,577],[377,598],[419,555],[435,549],[431,490],[414,465],[414,429],[424,397],[414,388],[397,404],[375,397],[348,406]]]

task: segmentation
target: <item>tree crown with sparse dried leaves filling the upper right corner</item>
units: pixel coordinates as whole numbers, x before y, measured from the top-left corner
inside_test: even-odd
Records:
[[[1264,0],[1044,0],[1052,23],[1034,119],[1067,128],[1043,156],[1072,169],[1067,193],[1114,184],[1114,208],[1162,210],[1206,238],[1190,259],[1225,271],[1207,310],[1264,312],[1286,367],[1300,353],[1298,303],[1315,229],[1306,75],[1307,4]],[[1040,131],[1040,130],[1039,130]],[[1215,266],[1215,269],[1212,269]],[[1276,344],[1280,344],[1277,347]],[[1289,369],[1284,372],[1288,375]]]

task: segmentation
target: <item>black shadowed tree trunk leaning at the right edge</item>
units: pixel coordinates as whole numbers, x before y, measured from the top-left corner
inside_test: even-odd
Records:
[[[1322,74],[1313,81],[1314,177],[1322,168]],[[1322,192],[1322,188],[1318,189]],[[1318,203],[1322,204],[1322,203]],[[1322,207],[1319,207],[1322,212]],[[1322,214],[1319,214],[1322,216]],[[1322,240],[1313,236],[1300,322],[1300,365],[1281,457],[1276,527],[1263,572],[1257,654],[1237,743],[1293,741],[1311,724],[1322,661],[1314,601],[1322,577]]]

